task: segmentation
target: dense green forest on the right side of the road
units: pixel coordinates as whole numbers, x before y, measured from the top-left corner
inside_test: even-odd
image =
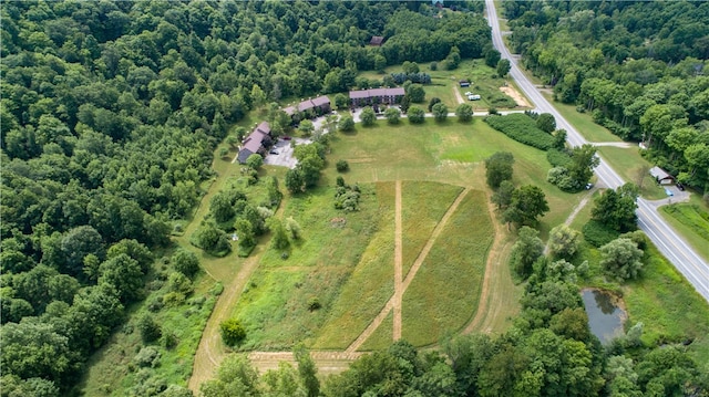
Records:
[[[709,3],[505,1],[513,51],[682,184],[709,191]]]

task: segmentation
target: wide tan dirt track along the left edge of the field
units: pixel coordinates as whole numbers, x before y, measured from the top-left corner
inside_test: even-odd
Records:
[[[214,305],[212,315],[202,333],[202,339],[199,341],[199,346],[195,354],[195,362],[192,367],[192,377],[189,378],[188,387],[195,395],[199,391],[199,385],[214,376],[215,369],[225,356],[226,352],[224,351],[219,335],[219,324],[232,313],[232,309],[242,295],[246,282],[258,267],[260,251],[255,252],[244,261],[242,269],[234,280],[232,280],[228,285],[224,285],[224,292]]]

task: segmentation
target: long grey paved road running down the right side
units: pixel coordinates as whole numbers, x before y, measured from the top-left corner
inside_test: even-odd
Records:
[[[510,53],[504,45],[500,22],[493,0],[485,0],[487,8],[487,22],[492,27],[492,41],[500,51],[502,58],[510,60],[512,69],[510,74],[517,82],[520,88],[534,104],[535,112],[551,113],[556,118],[556,126],[566,129],[568,143],[574,146],[586,144],[586,139],[556,111],[552,104],[540,93],[534,84],[522,73],[517,66],[517,59]],[[596,175],[603,185],[617,188],[625,184],[616,171],[600,159],[596,168]],[[657,209],[645,199],[638,199],[638,226],[653,240],[662,254],[679,270],[697,291],[709,301],[709,265],[691,249],[672,228],[659,216]]]

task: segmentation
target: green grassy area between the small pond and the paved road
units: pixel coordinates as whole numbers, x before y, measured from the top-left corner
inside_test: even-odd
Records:
[[[641,278],[623,289],[630,321],[644,323],[645,343],[693,341],[690,352],[708,363],[709,305],[653,243],[646,252]]]

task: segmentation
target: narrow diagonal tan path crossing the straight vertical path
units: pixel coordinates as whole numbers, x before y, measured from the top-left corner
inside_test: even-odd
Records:
[[[439,223],[433,229],[433,232],[431,233],[429,241],[427,241],[425,245],[419,253],[419,257],[417,258],[417,260],[413,262],[413,265],[409,270],[409,273],[407,273],[407,278],[403,280],[403,283],[401,285],[401,296],[403,296],[403,293],[407,291],[407,289],[411,284],[411,281],[417,275],[417,272],[421,268],[421,264],[423,264],[423,260],[429,255],[429,252],[431,251],[433,243],[435,243],[435,240],[441,234],[441,231],[448,223],[449,219],[451,219],[451,217],[453,216],[453,212],[455,212],[455,209],[458,209],[458,206],[460,206],[461,201],[463,201],[463,199],[465,198],[465,196],[467,196],[467,192],[470,192],[470,190],[471,188],[465,188],[465,190],[461,191],[461,194],[458,196],[455,201],[453,201],[453,203],[451,205],[451,207],[449,207],[445,215],[441,218]],[[357,337],[357,339],[354,339],[354,342],[352,342],[352,344],[349,345],[349,347],[347,347],[345,353],[350,354],[350,353],[357,352],[357,349],[364,343],[364,341],[367,341],[367,338],[369,338],[374,333],[374,331],[379,327],[379,325],[381,325],[381,323],[384,321],[389,312],[391,312],[391,310],[393,309],[394,300],[395,300],[395,292],[394,292],[394,295],[392,295],[389,299],[389,301],[387,301],[387,303],[384,304],[384,307],[382,307],[382,310],[374,317],[374,320],[372,320],[369,326],[367,326],[367,328]]]

